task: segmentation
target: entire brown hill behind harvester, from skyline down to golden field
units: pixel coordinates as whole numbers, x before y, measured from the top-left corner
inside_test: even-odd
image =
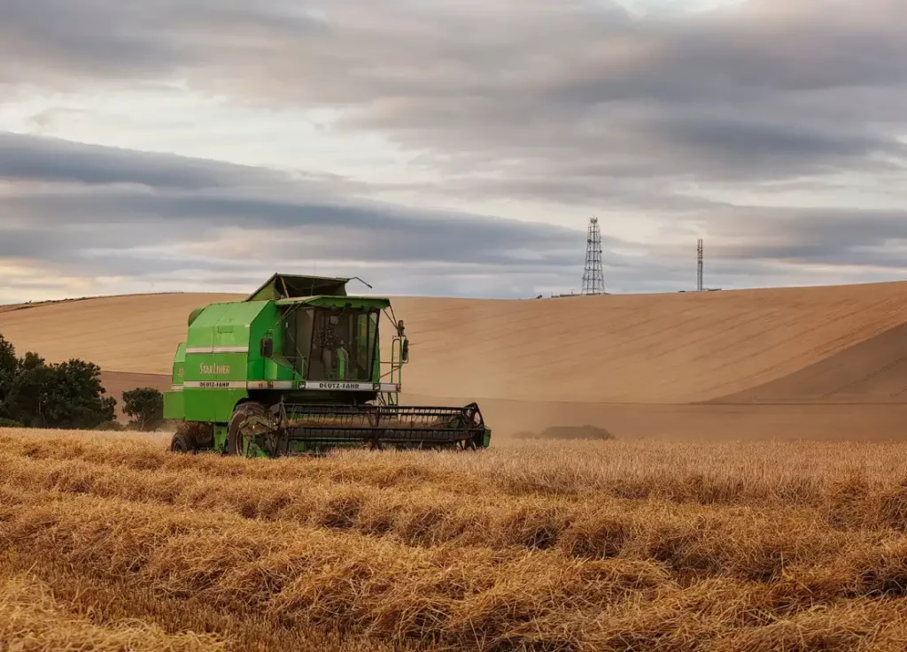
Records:
[[[0,333],[170,386],[186,319],[231,294],[0,306]],[[399,297],[408,404],[479,401],[494,440],[551,426],[640,437],[903,439],[907,283],[522,301]]]

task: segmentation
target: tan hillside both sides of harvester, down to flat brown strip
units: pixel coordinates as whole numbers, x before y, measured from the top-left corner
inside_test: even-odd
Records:
[[[0,312],[0,332],[20,352],[38,350],[48,360],[168,374],[191,310],[235,298],[44,304]],[[398,298],[395,312],[412,340],[405,384],[425,396],[689,403],[853,398],[907,387],[891,365],[900,340],[889,333],[907,322],[907,283],[526,301]]]

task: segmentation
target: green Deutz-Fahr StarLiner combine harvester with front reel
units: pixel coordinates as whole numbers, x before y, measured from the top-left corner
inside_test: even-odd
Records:
[[[180,422],[171,450],[277,457],[349,446],[487,448],[491,430],[475,403],[399,405],[404,322],[388,299],[348,296],[351,280],[278,273],[243,301],[193,311],[164,392],[164,418]],[[382,314],[389,360],[381,360]]]

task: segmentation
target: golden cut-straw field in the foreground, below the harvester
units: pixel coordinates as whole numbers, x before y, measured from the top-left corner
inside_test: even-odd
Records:
[[[904,444],[166,444],[0,430],[0,648],[907,646]]]

